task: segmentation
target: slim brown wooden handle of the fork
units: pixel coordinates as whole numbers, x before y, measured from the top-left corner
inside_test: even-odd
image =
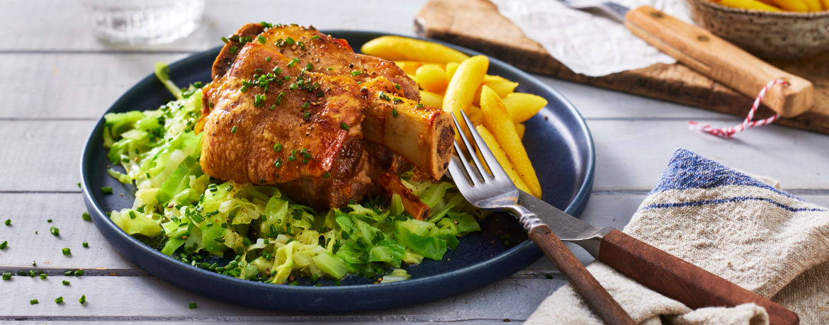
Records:
[[[576,259],[573,252],[559,240],[550,227],[547,225],[536,226],[530,230],[530,239],[536,242],[544,255],[555,264],[555,267],[565,275],[573,288],[578,292],[584,301],[593,308],[594,313],[604,319],[608,324],[634,325],[633,319],[622,309],[622,306],[610,296],[608,290],[604,289],[593,274],[584,269],[579,259]]]

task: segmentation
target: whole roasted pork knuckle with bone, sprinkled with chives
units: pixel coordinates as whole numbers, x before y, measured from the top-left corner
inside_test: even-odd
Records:
[[[196,126],[211,177],[277,184],[324,207],[360,201],[377,175],[399,172],[377,166],[366,141],[390,149],[395,166],[402,157],[433,180],[446,171],[450,116],[419,106],[417,85],[394,62],[356,54],[313,27],[247,24],[229,37],[212,76]],[[395,182],[383,179],[390,192]]]

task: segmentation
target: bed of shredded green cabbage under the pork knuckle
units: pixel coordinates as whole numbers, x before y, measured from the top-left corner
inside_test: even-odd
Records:
[[[349,274],[382,277],[385,283],[409,279],[402,265],[441,260],[459,236],[480,230],[482,211],[445,178],[415,182],[411,172],[401,176],[432,208],[425,221],[405,213],[397,195],[367,196],[361,204],[314,211],[276,187],[211,178],[199,164],[203,133],[193,131],[201,118],[203,85],[182,90],[167,73],[167,65],[156,65],[158,79],[177,99],[156,110],[104,116],[109,160],[124,167],[124,173],[107,172],[138,188],[133,207],[109,217],[129,235],[156,240],[163,254],[271,284],[285,284],[292,275],[316,282]],[[203,262],[209,255],[232,260],[223,266]]]

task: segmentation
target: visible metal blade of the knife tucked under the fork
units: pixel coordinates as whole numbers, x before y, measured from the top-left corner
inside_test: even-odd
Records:
[[[577,244],[594,257],[599,257],[599,244],[602,242],[602,236],[615,230],[613,227],[590,225],[568,215],[555,206],[550,206],[550,204],[541,201],[536,196],[520,190],[518,193],[518,205],[524,206],[527,210],[535,213],[541,221],[550,226],[550,230],[553,230],[553,233],[559,236],[560,240]]]

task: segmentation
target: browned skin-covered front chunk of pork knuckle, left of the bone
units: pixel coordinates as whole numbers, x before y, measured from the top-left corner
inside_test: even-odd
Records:
[[[359,143],[365,106],[360,87],[345,76],[300,76],[289,62],[278,51],[249,43],[230,70],[207,87],[202,170],[240,183],[293,182],[289,192],[329,187],[298,196],[319,197],[331,206],[361,198],[371,180]],[[282,70],[272,73],[269,79],[281,82],[268,82],[268,91],[250,81],[258,81],[254,75],[264,70]],[[311,88],[296,87],[297,78]],[[320,200],[303,201],[323,206]]]

